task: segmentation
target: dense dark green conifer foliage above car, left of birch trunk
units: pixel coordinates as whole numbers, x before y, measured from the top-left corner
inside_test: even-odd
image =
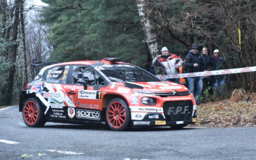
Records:
[[[118,57],[140,64],[147,59],[140,17],[133,1],[44,2],[49,6],[42,12],[42,22],[52,24],[52,61]]]

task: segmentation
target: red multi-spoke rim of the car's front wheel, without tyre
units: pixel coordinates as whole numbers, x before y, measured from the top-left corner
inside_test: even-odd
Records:
[[[120,128],[124,125],[127,111],[122,102],[112,102],[108,108],[108,122],[113,128]]]

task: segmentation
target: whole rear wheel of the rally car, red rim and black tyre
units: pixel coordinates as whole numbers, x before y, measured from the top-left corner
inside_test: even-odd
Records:
[[[45,116],[39,102],[30,98],[26,100],[22,109],[22,118],[29,127],[42,127],[45,124]]]

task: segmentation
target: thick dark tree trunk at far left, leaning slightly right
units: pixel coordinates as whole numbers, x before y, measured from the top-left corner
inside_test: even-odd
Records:
[[[13,81],[14,81],[14,74],[15,74],[15,61],[17,55],[17,35],[18,35],[18,28],[19,28],[19,9],[20,9],[20,0],[15,0],[15,13],[14,13],[14,20],[12,25],[12,42],[15,42],[10,51],[8,52],[8,58],[11,63],[10,71],[9,71],[9,81],[8,81],[8,97],[7,97],[7,104],[12,104],[12,95],[13,95]]]

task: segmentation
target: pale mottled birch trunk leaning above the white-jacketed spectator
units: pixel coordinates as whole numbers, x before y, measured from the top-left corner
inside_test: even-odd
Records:
[[[154,27],[152,20],[150,20],[150,8],[148,8],[148,3],[145,0],[136,0],[136,3],[145,34],[145,41],[147,42],[151,58],[154,60],[159,53],[160,41],[156,28]]]

